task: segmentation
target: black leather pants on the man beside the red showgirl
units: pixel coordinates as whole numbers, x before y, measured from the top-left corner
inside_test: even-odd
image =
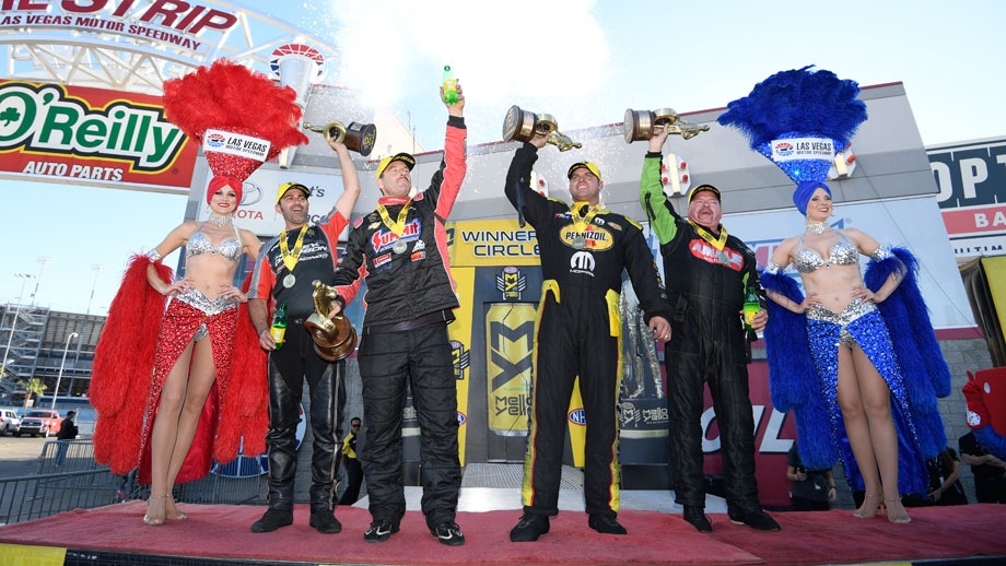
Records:
[[[321,359],[303,323],[291,321],[283,347],[269,355],[269,508],[292,510],[293,481],[297,470],[296,429],[301,422],[304,380],[308,408],[311,445],[311,510],[331,510],[338,437],[346,406],[344,363]]]

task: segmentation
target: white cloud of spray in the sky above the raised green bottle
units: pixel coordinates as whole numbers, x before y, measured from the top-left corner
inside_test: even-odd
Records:
[[[499,140],[514,104],[552,114],[560,129],[596,125],[587,115],[610,95],[610,57],[595,8],[594,0],[337,2],[330,17],[339,23],[340,82],[367,104],[416,120],[428,140],[424,133],[442,135],[433,126],[423,132],[422,120],[443,123],[435,93],[445,63],[465,90],[471,141]]]

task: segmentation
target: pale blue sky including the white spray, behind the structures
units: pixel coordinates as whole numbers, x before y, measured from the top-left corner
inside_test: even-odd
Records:
[[[763,4],[725,0],[233,1],[319,38],[339,34],[342,83],[443,140],[436,97],[444,63],[465,87],[469,143],[499,141],[513,104],[549,113],[562,130],[619,122],[624,109],[725,106],[770,74],[816,64],[861,85],[903,82],[927,145],[1006,137],[1006,2]],[[756,7],[773,5],[757,9]],[[775,8],[779,7],[779,8]],[[336,15],[338,14],[338,16]],[[329,76],[332,76],[330,73]],[[327,81],[328,82],[328,81]],[[179,222],[185,197],[72,185],[0,182],[7,245],[0,303],[38,275],[36,303],[105,314],[130,253]],[[39,258],[49,258],[45,266]],[[24,286],[24,303],[35,290]]]

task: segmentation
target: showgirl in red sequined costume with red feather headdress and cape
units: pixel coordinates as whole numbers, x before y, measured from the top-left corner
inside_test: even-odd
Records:
[[[227,61],[164,83],[167,118],[206,142],[214,174],[210,215],[183,223],[132,258],[108,311],[91,385],[95,459],[120,474],[139,467],[140,483],[151,484],[145,524],[186,519],[172,490],[204,476],[213,459],[233,460],[238,445],[245,455],[265,451],[267,362],[247,297],[234,284],[242,256],[255,259],[260,241],[233,217],[244,180],[262,161],[306,142],[295,96]],[[260,154],[215,151],[222,138],[235,137],[256,142],[242,145]],[[182,246],[185,276],[174,280],[161,258]]]

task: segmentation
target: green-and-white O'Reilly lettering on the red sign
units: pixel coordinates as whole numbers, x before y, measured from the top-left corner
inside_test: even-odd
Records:
[[[0,84],[0,153],[22,149],[96,157],[128,162],[133,172],[162,173],[186,140],[156,106],[117,99],[92,108],[61,85]]]

